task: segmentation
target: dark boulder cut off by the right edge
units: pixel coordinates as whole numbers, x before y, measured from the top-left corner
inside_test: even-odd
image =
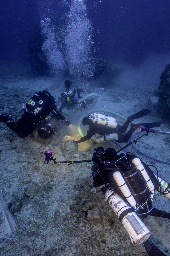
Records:
[[[170,64],[162,72],[159,83],[159,111],[170,122]]]

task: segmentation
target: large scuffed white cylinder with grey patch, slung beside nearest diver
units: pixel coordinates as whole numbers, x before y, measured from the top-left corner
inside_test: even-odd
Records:
[[[150,237],[151,233],[142,220],[116,192],[108,189],[105,198],[125,227],[132,243],[140,245]]]

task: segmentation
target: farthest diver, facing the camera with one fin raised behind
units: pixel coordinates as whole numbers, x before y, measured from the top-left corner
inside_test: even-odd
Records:
[[[78,98],[75,97],[75,92],[76,90],[74,89],[74,91],[69,91],[71,85],[72,85],[72,81],[70,80],[65,80],[64,81],[64,85],[66,88],[66,91],[61,93],[61,106],[59,109],[59,113],[62,113],[62,110],[64,107],[67,108],[67,110],[72,109],[74,112],[79,110],[79,109],[88,109],[86,106],[86,102],[85,100],[83,100],[81,103],[78,103],[78,101],[82,98],[80,95],[80,91],[81,89],[77,89],[77,94],[78,94]]]

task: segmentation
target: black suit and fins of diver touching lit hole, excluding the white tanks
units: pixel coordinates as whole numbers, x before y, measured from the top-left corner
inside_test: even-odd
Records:
[[[116,128],[112,128],[112,127],[108,127],[105,125],[101,125],[101,124],[97,124],[97,123],[93,123],[92,120],[89,118],[89,115],[87,117],[84,117],[82,120],[82,124],[83,125],[89,125],[89,130],[87,131],[87,135],[85,135],[84,137],[82,137],[79,141],[74,141],[75,143],[80,143],[80,142],[84,142],[87,141],[88,139],[90,139],[93,135],[95,134],[100,134],[100,135],[108,135],[108,134],[112,134],[112,133],[117,133],[118,135],[118,139],[117,142],[118,143],[123,143],[123,142],[128,142],[129,139],[131,138],[133,132],[137,129],[140,128],[142,125],[144,125],[145,127],[159,127],[161,125],[161,123],[145,123],[145,124],[131,124],[131,129],[124,134],[127,131],[128,125],[137,118],[143,117],[145,115],[150,114],[151,111],[148,109],[144,109],[141,110],[140,112],[131,115],[130,117],[127,117],[127,121],[124,123],[124,125],[116,125]]]

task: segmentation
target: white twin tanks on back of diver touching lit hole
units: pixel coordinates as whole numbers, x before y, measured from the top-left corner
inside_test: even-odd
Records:
[[[116,128],[117,126],[116,119],[114,117],[110,117],[107,115],[102,115],[94,112],[90,114],[89,118],[93,121],[93,123],[105,125],[111,128]]]

